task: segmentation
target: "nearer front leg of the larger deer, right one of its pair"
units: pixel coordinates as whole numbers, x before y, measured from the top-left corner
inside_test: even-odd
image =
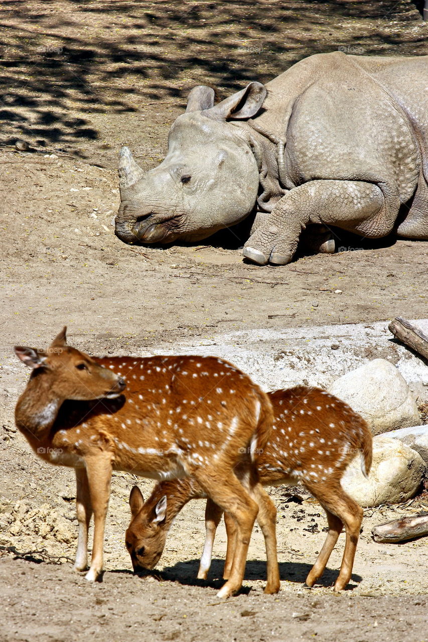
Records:
[[[94,543],[91,567],[85,575],[88,582],[95,582],[103,569],[105,517],[110,498],[112,464],[109,455],[97,455],[85,460],[89,494],[94,512]]]

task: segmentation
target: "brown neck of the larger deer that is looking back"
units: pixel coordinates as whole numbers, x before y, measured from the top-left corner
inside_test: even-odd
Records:
[[[49,377],[33,373],[15,409],[17,428],[31,445],[46,438],[64,401],[52,390]]]

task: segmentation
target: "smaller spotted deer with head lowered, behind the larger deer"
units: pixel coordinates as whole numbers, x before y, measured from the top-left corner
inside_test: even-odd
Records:
[[[319,388],[296,386],[268,394],[274,409],[274,426],[265,448],[256,459],[264,486],[303,485],[324,508],[328,535],[305,584],[314,586],[323,575],[328,558],[342,531],[346,543],[334,590],[348,584],[362,521],[362,509],[341,487],[344,470],[357,453],[367,476],[371,466],[371,433],[364,419],[346,403]],[[130,492],[132,513],[126,533],[132,555],[138,549],[142,566],[152,569],[162,555],[166,535],[174,517],[190,499],[206,498],[195,478],[158,483],[144,503],[137,486]],[[199,578],[206,578],[211,564],[215,530],[222,516],[210,498],[206,506],[206,540],[199,566]],[[231,569],[235,527],[225,514],[227,553],[224,577]]]

